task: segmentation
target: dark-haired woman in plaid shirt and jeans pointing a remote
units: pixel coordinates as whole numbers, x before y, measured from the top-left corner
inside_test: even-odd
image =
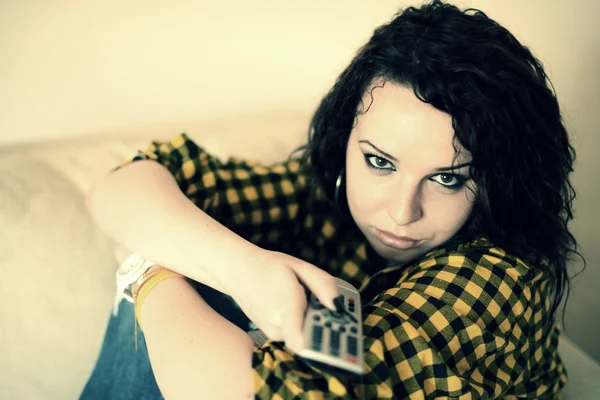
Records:
[[[506,29],[435,2],[374,32],[300,157],[221,163],[185,134],[153,143],[88,197],[167,272],[141,286],[141,349],[122,302],[82,398],[559,396],[574,150],[548,85]],[[364,376],[295,356],[304,287],[333,307],[334,276],[361,291]],[[207,287],[270,340],[255,346]]]

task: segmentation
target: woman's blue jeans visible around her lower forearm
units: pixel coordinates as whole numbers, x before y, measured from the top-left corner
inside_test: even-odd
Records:
[[[229,296],[193,283],[204,300],[223,317],[248,331],[252,323]],[[163,400],[150,366],[144,334],[138,328],[134,342],[133,305],[121,301],[117,315],[111,314],[98,361],[81,393],[82,400]]]

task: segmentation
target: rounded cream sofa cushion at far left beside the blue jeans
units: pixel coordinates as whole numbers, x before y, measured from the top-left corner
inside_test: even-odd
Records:
[[[113,244],[81,191],[47,163],[0,157],[0,388],[76,398],[114,295]]]

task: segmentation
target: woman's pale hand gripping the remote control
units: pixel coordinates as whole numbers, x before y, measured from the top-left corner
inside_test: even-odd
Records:
[[[236,277],[230,286],[230,295],[248,318],[269,339],[284,341],[294,352],[304,341],[304,287],[332,310],[333,299],[338,296],[335,279],[329,273],[288,254],[264,249],[258,250],[244,275]]]

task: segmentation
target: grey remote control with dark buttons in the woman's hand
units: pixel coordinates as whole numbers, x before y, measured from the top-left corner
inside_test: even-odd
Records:
[[[360,294],[348,282],[336,278],[340,293],[336,311],[310,294],[304,317],[304,346],[298,356],[334,372],[364,374]]]

